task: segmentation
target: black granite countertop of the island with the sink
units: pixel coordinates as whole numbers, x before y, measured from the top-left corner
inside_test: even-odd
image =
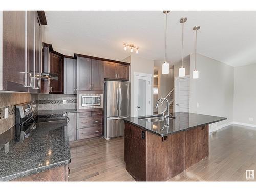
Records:
[[[153,115],[153,116],[157,117],[162,115]],[[216,123],[216,122],[227,119],[225,117],[201,115],[201,114],[188,113],[188,112],[178,112],[178,113],[173,113],[173,117],[175,117],[175,119],[170,118],[169,126],[165,126],[166,120],[157,121],[157,122],[147,122],[143,119],[140,119],[145,117],[152,117],[152,115],[141,116],[141,117],[129,117],[123,120],[135,126],[138,126],[143,130],[150,131],[156,135],[164,137],[169,134],[175,134],[177,132],[192,129],[197,126]]]

